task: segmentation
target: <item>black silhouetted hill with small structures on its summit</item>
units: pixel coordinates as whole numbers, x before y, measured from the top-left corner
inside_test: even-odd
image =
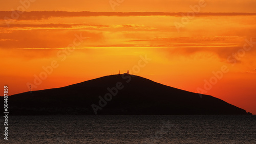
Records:
[[[12,115],[250,114],[210,95],[201,96],[126,73],[14,94],[8,97],[8,106]]]

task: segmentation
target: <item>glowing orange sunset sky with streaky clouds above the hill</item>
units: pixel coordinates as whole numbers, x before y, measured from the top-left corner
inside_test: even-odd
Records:
[[[62,87],[130,69],[256,114],[254,0],[22,2],[0,2],[0,83],[9,94],[28,91],[28,84]],[[151,60],[134,71],[145,55]],[[217,79],[223,66],[228,72]]]

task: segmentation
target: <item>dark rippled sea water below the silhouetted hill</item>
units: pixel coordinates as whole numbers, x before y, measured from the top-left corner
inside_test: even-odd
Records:
[[[3,134],[0,143],[256,143],[256,115],[9,116]]]

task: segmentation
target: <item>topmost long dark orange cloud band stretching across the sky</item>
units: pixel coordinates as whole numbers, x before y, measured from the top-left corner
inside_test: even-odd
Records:
[[[0,20],[41,20],[51,17],[88,16],[183,16],[183,12],[68,12],[68,11],[0,11]],[[255,16],[256,13],[197,13],[196,16]]]

